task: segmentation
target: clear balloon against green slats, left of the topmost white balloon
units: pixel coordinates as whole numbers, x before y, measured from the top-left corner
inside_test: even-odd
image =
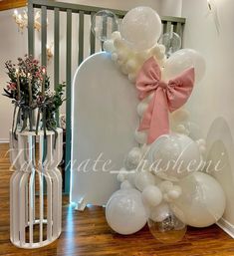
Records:
[[[99,11],[92,19],[91,28],[102,42],[111,39],[112,33],[118,30],[117,15],[108,10]]]

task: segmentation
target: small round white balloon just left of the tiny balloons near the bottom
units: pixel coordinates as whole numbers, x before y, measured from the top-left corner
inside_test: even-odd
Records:
[[[142,191],[142,199],[147,205],[155,207],[162,200],[161,190],[155,185],[148,185]]]

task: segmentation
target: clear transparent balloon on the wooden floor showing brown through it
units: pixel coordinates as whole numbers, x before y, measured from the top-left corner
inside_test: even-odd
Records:
[[[172,212],[162,221],[148,219],[148,228],[151,234],[161,243],[176,243],[183,239],[187,226],[179,220]]]

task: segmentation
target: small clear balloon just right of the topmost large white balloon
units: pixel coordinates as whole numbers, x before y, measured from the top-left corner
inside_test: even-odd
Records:
[[[165,46],[165,54],[167,57],[181,48],[181,38],[174,32],[163,34],[159,42]]]

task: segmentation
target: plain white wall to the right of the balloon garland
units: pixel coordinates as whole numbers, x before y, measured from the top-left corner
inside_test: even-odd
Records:
[[[216,176],[227,196],[227,210],[224,219],[233,225],[234,1],[213,0],[212,3],[216,5],[218,11],[220,34],[216,30],[213,16],[207,16],[207,1],[183,0],[182,4],[182,16],[187,18],[184,47],[199,51],[207,64],[205,77],[195,88],[188,107],[193,120],[199,124],[204,134],[208,132],[215,120],[221,118],[213,124],[211,132],[208,132],[208,137],[216,137],[224,143],[224,146],[221,146],[219,142],[219,146],[216,146],[215,149],[216,152],[212,152],[212,154],[216,154],[216,157],[217,155],[220,157],[217,150],[220,151],[221,147],[227,150],[225,152],[227,154],[226,167]],[[215,134],[211,135],[210,133]],[[223,151],[225,151],[224,149]]]

